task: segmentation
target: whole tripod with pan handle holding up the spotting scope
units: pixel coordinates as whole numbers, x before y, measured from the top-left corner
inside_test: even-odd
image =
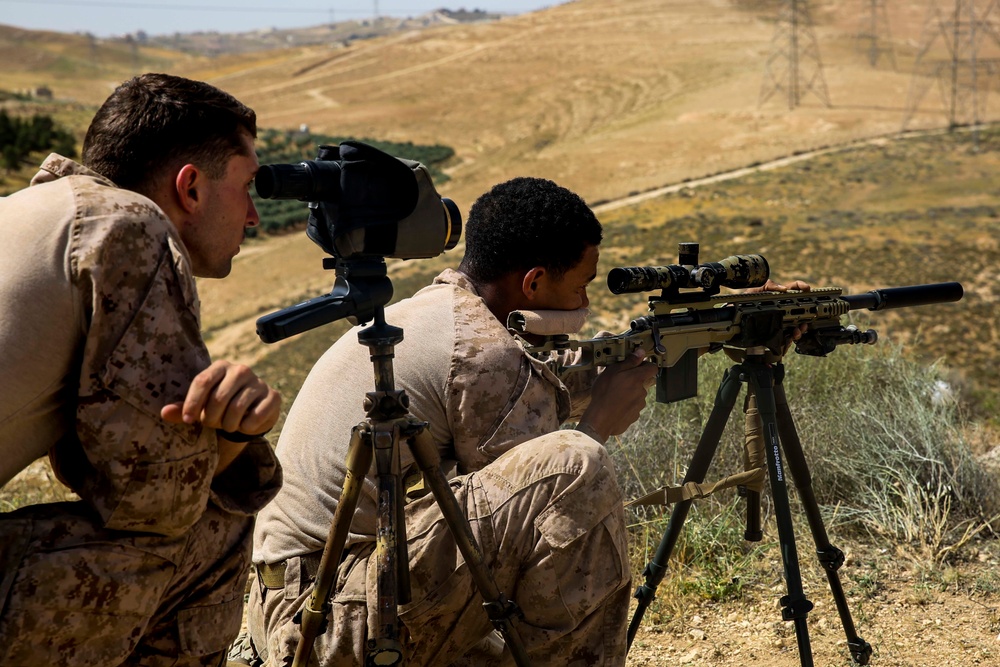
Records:
[[[370,351],[375,371],[375,391],[365,395],[365,421],[351,431],[344,487],[323,548],[313,592],[301,612],[302,638],[296,646],[293,667],[309,664],[313,643],[326,630],[337,566],[343,556],[351,520],[373,460],[378,507],[377,541],[372,557],[377,561],[378,609],[375,636],[368,639],[366,664],[382,666],[404,662],[397,608],[409,602],[410,580],[403,479],[399,463],[401,440],[409,443],[413,458],[423,473],[424,483],[430,487],[441,508],[476,588],[485,601],[483,606],[490,621],[503,636],[515,663],[527,667],[530,665],[527,651],[514,626],[520,609],[500,592],[485,565],[468,518],[441,471],[441,459],[426,430],[426,422],[417,420],[409,413],[406,392],[395,387],[392,359],[395,346],[403,340],[403,330],[385,321],[384,305],[392,296],[392,284],[386,276],[385,263],[338,263],[336,269],[337,282],[331,294],[258,320],[258,334],[266,342],[344,317],[372,321],[371,326],[358,332],[358,341]]]

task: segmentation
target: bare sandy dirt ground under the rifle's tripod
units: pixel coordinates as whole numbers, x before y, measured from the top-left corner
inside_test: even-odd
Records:
[[[800,552],[802,551],[800,547]],[[840,570],[857,633],[873,649],[868,664],[881,667],[1000,665],[998,550],[968,562],[919,572],[869,547]],[[808,554],[807,554],[808,555]],[[857,558],[862,555],[863,559]],[[868,560],[869,557],[873,560]],[[803,558],[804,562],[804,558]],[[876,563],[881,563],[876,565]],[[780,568],[775,562],[776,576]],[[683,618],[662,625],[644,619],[629,652],[631,667],[818,667],[854,663],[824,579],[803,574],[812,662],[802,661],[794,624],[781,619],[784,582],[738,602],[690,605]]]

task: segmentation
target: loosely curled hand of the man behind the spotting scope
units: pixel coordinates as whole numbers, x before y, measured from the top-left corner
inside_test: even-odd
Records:
[[[249,367],[216,361],[191,380],[184,402],[163,406],[160,417],[175,424],[201,423],[256,435],[271,430],[280,411],[280,394]]]

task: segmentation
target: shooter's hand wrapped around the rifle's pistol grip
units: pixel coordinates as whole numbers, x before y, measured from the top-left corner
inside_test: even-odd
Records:
[[[590,406],[580,418],[581,424],[606,440],[623,433],[639,418],[658,370],[655,364],[643,361],[645,356],[642,348],[636,348],[625,360],[604,369],[594,382]]]

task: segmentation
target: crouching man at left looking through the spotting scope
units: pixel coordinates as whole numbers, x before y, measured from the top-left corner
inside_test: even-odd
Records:
[[[253,111],[149,74],[97,112],[83,161],[0,198],[0,484],[48,453],[81,500],[0,514],[0,664],[219,665],[252,515],[281,470],[280,397],[212,363],[194,276],[258,223]]]

